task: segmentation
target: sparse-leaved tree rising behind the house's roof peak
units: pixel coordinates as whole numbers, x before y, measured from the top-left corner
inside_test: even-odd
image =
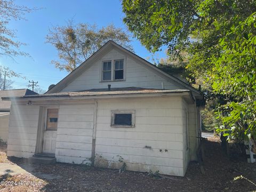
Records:
[[[74,25],[73,21],[69,21],[67,26],[52,27],[46,36],[46,43],[51,43],[57,49],[60,59],[51,62],[56,68],[69,72],[81,65],[109,40],[132,50],[129,35],[114,25],[99,29],[95,25]]]

